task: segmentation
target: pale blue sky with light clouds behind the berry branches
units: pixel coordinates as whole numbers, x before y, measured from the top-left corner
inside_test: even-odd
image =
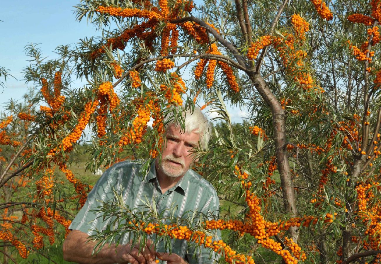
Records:
[[[11,99],[22,100],[28,85],[22,80],[22,69],[29,65],[24,47],[40,43],[43,55],[54,58],[54,48],[74,44],[84,37],[99,35],[86,19],[75,20],[74,5],[80,0],[3,1],[0,8],[0,66],[10,70],[16,79],[7,79],[0,87],[0,110]],[[241,122],[245,111],[229,108],[234,122]]]

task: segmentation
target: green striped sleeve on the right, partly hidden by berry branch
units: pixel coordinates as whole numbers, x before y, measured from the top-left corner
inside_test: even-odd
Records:
[[[202,209],[202,213],[208,215],[208,219],[219,219],[219,200],[217,193],[214,193],[212,200],[206,207]],[[221,230],[211,230],[212,241],[218,241],[221,239]],[[185,255],[185,260],[190,264],[215,264],[218,263],[220,254],[214,252],[211,248],[205,248],[204,246],[194,245],[189,246],[188,251]]]

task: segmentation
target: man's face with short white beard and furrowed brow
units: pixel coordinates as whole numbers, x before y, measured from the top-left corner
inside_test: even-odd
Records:
[[[195,132],[181,134],[171,125],[166,129],[165,137],[166,146],[163,146],[158,169],[169,177],[177,178],[184,175],[194,161],[190,151],[197,147],[200,135]]]

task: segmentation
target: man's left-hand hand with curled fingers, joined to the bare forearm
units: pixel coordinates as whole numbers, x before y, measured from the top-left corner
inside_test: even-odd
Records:
[[[132,241],[130,241],[127,245],[117,247],[117,253],[114,258],[115,262],[120,264],[140,264],[149,263],[150,261],[155,260],[156,252],[151,240],[147,240],[147,244],[144,248],[142,248],[141,252],[139,252],[139,245],[135,245],[131,248],[131,243]],[[137,244],[139,244],[139,242]]]

